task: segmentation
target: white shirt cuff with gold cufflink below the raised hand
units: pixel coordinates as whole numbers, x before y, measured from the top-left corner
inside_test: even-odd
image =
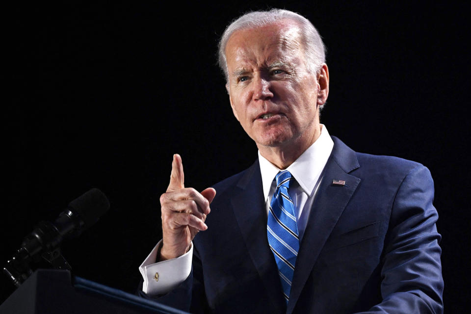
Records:
[[[142,291],[149,295],[170,292],[183,283],[191,272],[193,243],[190,244],[188,252],[182,256],[156,263],[157,252],[161,245],[162,240],[157,243],[149,256],[139,266],[139,271],[144,279]]]

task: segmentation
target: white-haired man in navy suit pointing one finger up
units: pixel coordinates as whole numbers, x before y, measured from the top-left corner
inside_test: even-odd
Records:
[[[192,312],[442,313],[430,173],[356,153],[320,124],[329,71],[314,26],[248,13],[219,61],[259,158],[199,193],[174,156],[141,294]]]

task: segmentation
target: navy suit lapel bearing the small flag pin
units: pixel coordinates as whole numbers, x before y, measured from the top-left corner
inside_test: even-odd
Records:
[[[319,253],[360,183],[359,178],[348,174],[360,166],[355,152],[336,137],[333,139],[334,148],[325,166],[296,259],[288,314],[294,310]],[[345,185],[333,184],[334,180],[345,181]]]

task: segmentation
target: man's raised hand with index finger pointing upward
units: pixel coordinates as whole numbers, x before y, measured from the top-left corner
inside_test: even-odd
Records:
[[[182,158],[178,154],[173,156],[170,183],[160,196],[163,244],[159,261],[182,256],[195,235],[208,229],[206,215],[215,195],[216,190],[212,187],[201,193],[191,187],[185,188]]]

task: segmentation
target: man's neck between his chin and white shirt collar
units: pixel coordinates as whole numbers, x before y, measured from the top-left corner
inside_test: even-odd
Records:
[[[288,143],[277,146],[257,145],[260,154],[274,164],[278,169],[284,170],[301,156],[320,136],[321,125],[318,124],[312,134],[292,139]]]

